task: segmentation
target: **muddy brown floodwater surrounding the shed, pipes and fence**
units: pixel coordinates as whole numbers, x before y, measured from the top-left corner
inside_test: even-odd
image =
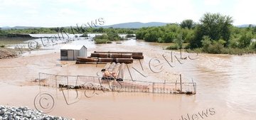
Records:
[[[75,65],[75,61],[60,61],[61,45],[53,50],[26,53],[19,58],[0,60],[1,105],[28,106],[35,109],[38,93],[54,97],[54,109],[48,114],[88,120],[178,120],[178,119],[239,119],[252,120],[256,114],[256,55],[211,55],[164,50],[168,44],[126,40],[122,44],[94,45],[90,40],[75,40],[73,44],[89,46],[88,54],[98,51],[143,52],[142,65],[130,65],[134,80],[175,82],[182,75],[184,82],[196,82],[197,94],[151,94],[127,92],[98,92],[85,97],[84,91],[39,87],[35,82],[38,72],[56,75],[96,76],[105,65]],[[169,60],[170,65],[163,56]],[[189,58],[188,58],[189,56]],[[149,69],[154,58],[160,61],[161,72]],[[191,58],[191,59],[190,59]],[[195,59],[195,60],[192,60]],[[142,68],[143,67],[143,68]],[[131,77],[126,74],[127,79]],[[76,95],[78,97],[76,97]]]

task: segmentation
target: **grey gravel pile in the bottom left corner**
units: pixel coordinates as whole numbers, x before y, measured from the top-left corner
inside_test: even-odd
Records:
[[[61,116],[50,116],[28,107],[0,106],[0,120],[68,120]]]

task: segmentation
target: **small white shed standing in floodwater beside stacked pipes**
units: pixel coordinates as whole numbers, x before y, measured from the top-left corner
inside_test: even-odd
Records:
[[[87,57],[85,45],[64,45],[60,48],[60,60],[77,60],[78,57]]]

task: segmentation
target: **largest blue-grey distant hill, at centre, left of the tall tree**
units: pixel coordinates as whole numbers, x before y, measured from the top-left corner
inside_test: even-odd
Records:
[[[151,26],[165,26],[167,23],[161,22],[150,22],[150,23],[141,23],[141,22],[131,22],[131,23],[118,23],[110,26],[102,26],[102,28],[142,28],[142,27],[151,27]]]

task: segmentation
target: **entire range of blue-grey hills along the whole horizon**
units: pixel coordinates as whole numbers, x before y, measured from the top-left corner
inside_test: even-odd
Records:
[[[142,28],[142,27],[151,27],[151,26],[166,26],[166,24],[168,23],[161,23],[161,22],[149,22],[149,23],[141,23],[141,22],[130,22],[130,23],[117,23],[114,25],[110,25],[110,26],[99,26],[102,28]],[[245,28],[250,26],[250,24],[243,24],[243,25],[239,25],[237,27],[239,28]],[[256,25],[252,25],[252,26],[256,26]],[[9,27],[9,26],[4,26],[1,27],[2,30],[8,30],[8,29],[25,29],[25,28],[43,28],[43,27],[33,27],[33,26],[15,26],[15,27]],[[70,27],[67,27],[70,28]]]

